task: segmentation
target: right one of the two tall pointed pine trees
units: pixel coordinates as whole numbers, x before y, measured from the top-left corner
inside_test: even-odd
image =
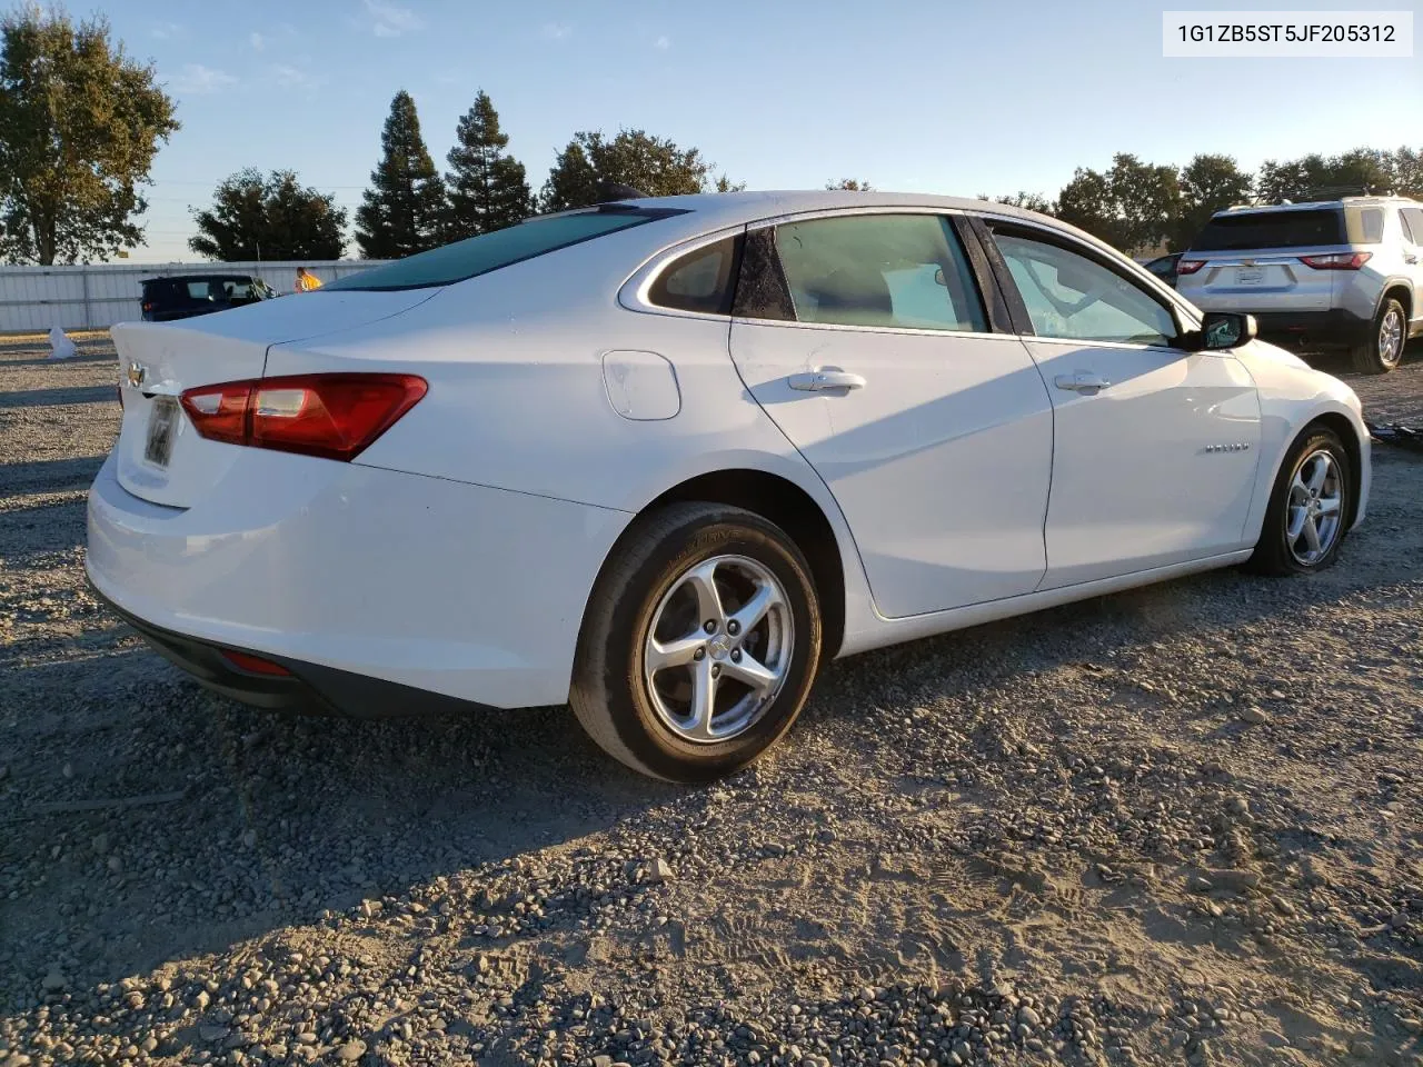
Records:
[[[451,240],[512,226],[534,212],[524,164],[504,151],[508,144],[499,112],[481,90],[460,120],[457,144],[445,156],[451,168],[445,175]]]

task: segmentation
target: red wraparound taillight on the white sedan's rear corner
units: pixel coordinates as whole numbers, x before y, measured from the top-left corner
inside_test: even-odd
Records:
[[[198,386],[182,405],[212,441],[349,461],[427,390],[414,374],[299,374]]]

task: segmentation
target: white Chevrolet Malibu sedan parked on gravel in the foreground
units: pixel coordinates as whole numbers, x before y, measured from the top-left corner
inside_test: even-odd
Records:
[[[632,199],[114,327],[95,589],[219,691],[572,704],[756,758],[835,656],[1245,563],[1369,494],[1340,381],[982,201]]]

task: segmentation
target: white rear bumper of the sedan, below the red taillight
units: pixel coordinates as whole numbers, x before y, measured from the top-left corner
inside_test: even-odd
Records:
[[[90,582],[168,659],[270,707],[568,699],[588,593],[628,515],[243,452],[186,509],[129,494],[112,457],[90,489]],[[290,677],[253,676],[222,649]]]

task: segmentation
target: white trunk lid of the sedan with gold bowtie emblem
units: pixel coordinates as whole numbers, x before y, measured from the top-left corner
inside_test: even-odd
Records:
[[[114,445],[118,482],[152,504],[191,508],[228,472],[240,447],[199,437],[179,405],[184,390],[260,378],[268,350],[388,319],[438,289],[303,293],[172,323],[118,323],[124,401]]]

